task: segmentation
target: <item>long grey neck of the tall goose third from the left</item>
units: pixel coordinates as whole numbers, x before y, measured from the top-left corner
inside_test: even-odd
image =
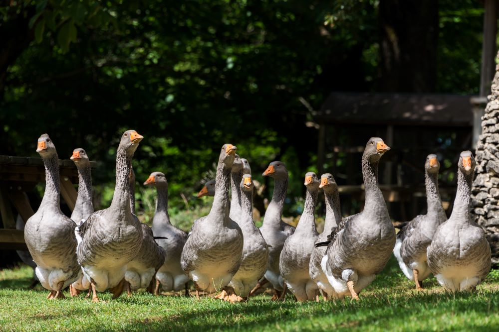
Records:
[[[114,188],[113,201],[109,207],[112,212],[125,212],[131,216],[130,209],[130,167],[132,165],[132,155],[128,155],[127,150],[118,148],[116,153],[116,186]]]

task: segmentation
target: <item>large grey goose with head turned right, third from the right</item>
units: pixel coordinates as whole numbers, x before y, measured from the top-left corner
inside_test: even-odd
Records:
[[[326,241],[321,266],[339,299],[358,300],[358,293],[383,270],[395,246],[395,228],[378,186],[378,164],[388,150],[381,138],[369,139],[362,155],[364,210],[344,218]]]

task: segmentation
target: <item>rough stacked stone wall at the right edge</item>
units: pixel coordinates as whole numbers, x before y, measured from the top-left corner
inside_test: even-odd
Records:
[[[499,53],[498,53],[499,57]],[[499,65],[492,94],[482,117],[477,150],[477,175],[473,182],[472,216],[485,229],[491,244],[492,262],[499,264]]]

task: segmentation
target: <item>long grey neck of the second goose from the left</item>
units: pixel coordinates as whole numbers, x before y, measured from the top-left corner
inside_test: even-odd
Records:
[[[86,219],[91,213],[94,212],[90,164],[85,164],[83,166],[76,164],[76,168],[78,169],[78,197],[76,198],[71,219],[73,219],[73,216],[75,216],[75,218],[81,217]],[[78,222],[79,220],[73,219],[73,221]]]

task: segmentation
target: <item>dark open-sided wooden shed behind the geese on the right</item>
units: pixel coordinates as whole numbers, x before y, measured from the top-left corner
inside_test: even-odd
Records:
[[[363,202],[360,160],[370,137],[392,150],[380,163],[379,179],[390,215],[399,221],[424,212],[424,163],[436,153],[440,187],[449,208],[454,199],[459,153],[471,150],[479,112],[471,96],[433,94],[332,93],[315,113],[319,127],[318,170],[340,185],[343,213]]]

